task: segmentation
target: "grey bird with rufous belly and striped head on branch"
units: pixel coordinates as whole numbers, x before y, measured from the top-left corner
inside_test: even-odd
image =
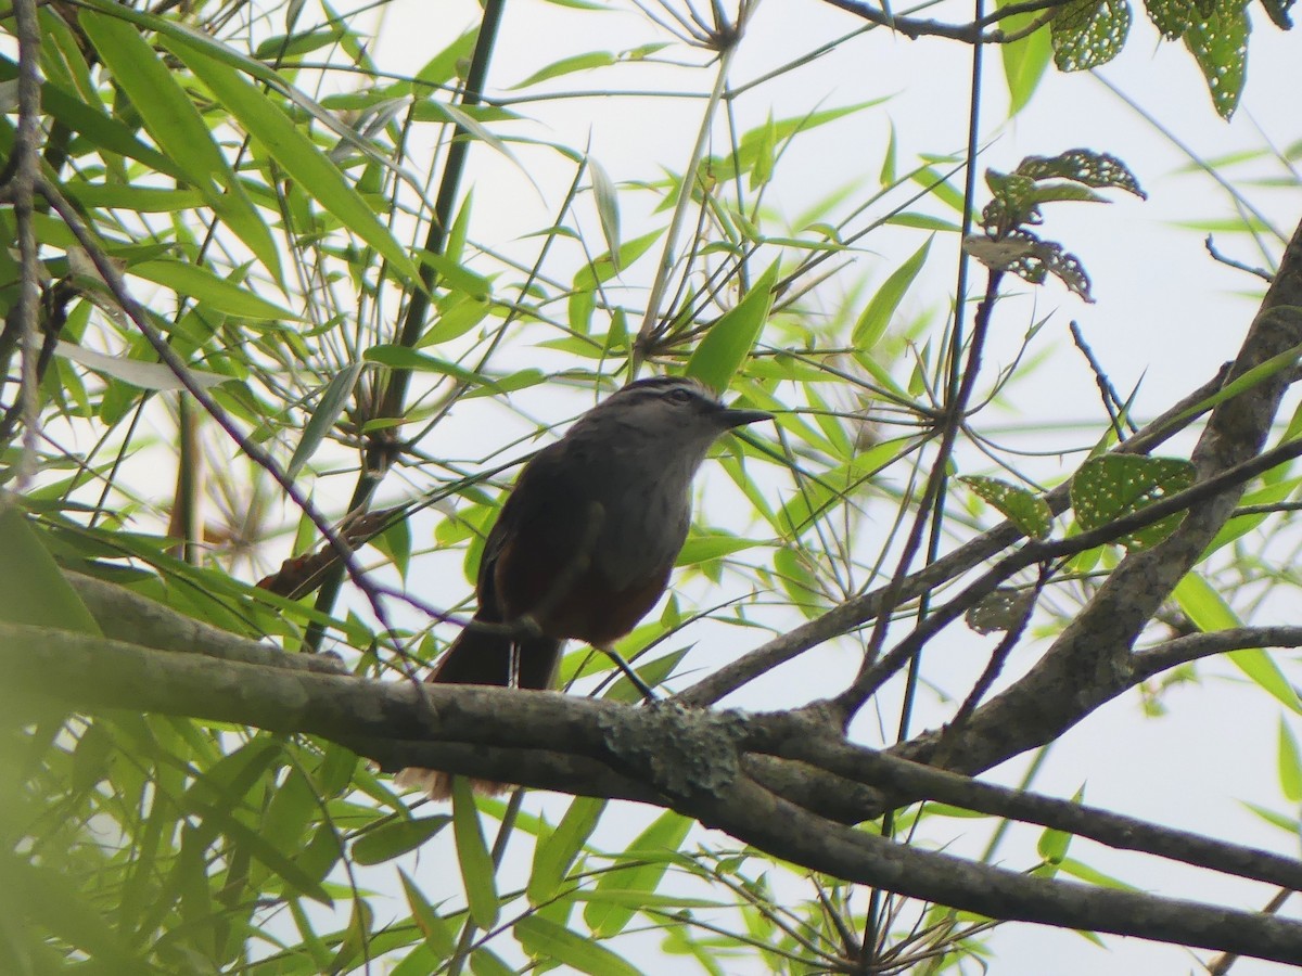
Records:
[[[638,681],[612,645],[668,586],[697,470],[724,433],[771,419],[724,406],[690,376],[634,380],[579,416],[521,470],[484,543],[478,609],[426,681],[551,688],[570,639]],[[452,776],[435,769],[404,769],[396,783],[452,795]]]

